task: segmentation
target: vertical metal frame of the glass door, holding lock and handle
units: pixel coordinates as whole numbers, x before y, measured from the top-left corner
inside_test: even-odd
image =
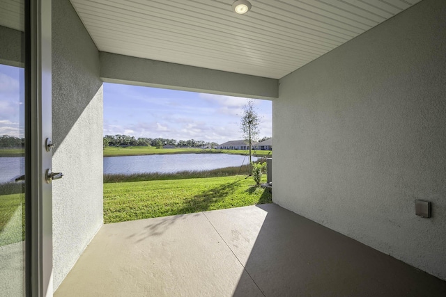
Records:
[[[25,9],[26,294],[52,296],[52,185],[45,178],[52,159],[45,144],[52,136],[52,1],[27,0]]]

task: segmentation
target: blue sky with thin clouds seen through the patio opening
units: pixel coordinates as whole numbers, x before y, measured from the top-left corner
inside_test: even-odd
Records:
[[[104,135],[224,143],[242,139],[246,98],[104,83]],[[271,104],[256,100],[260,137],[272,135]]]

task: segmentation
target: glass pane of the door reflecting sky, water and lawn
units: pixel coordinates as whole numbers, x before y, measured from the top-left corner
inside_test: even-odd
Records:
[[[24,1],[0,0],[0,296],[26,294]]]

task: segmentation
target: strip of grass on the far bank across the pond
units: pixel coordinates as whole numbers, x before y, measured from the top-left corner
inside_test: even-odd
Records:
[[[157,149],[155,147],[105,147],[104,156],[141,156],[150,154],[242,154],[247,155],[247,150],[215,150],[215,149]],[[270,150],[255,150],[254,156],[271,156]]]

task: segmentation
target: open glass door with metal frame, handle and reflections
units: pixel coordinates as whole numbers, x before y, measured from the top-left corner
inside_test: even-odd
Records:
[[[51,3],[0,0],[0,296],[52,296]]]

